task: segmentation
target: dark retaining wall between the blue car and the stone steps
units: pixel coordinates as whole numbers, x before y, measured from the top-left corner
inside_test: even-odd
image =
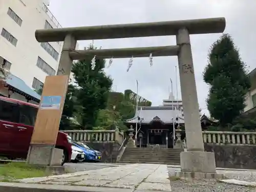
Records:
[[[101,162],[115,163],[120,145],[117,142],[87,142],[94,150],[102,153]]]

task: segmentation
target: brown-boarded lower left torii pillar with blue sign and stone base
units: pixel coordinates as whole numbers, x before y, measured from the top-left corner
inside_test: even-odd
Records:
[[[68,75],[46,77],[30,142],[29,164],[61,164],[63,152],[56,149],[55,144],[68,82]]]

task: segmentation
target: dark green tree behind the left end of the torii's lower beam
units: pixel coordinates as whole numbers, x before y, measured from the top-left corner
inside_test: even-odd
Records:
[[[88,49],[95,48],[90,46]],[[92,70],[92,58],[93,56],[88,56],[87,59],[79,60],[72,67],[75,82],[78,84],[80,123],[84,129],[93,129],[98,111],[106,108],[112,87],[112,79],[104,72],[105,60],[96,56],[96,67]]]

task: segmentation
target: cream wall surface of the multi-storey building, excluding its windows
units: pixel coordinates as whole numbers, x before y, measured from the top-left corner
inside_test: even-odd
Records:
[[[0,0],[0,33],[5,28],[17,39],[16,47],[0,35],[0,56],[12,63],[10,72],[23,79],[32,87],[33,78],[45,81],[47,73],[36,66],[38,56],[48,63],[56,72],[58,60],[55,60],[35,39],[35,30],[44,29],[46,20],[53,27],[61,27],[48,10],[45,0]],[[11,8],[22,20],[19,26],[7,14]],[[50,42],[50,45],[60,54],[62,42]]]

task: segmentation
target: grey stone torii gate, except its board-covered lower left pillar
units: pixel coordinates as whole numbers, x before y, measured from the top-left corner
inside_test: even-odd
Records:
[[[217,177],[214,153],[204,152],[195,71],[189,35],[222,33],[225,18],[178,20],[172,22],[75,27],[36,30],[38,42],[64,41],[57,75],[69,75],[73,60],[93,57],[126,58],[133,55],[178,56],[181,95],[184,108],[187,152],[181,152],[180,177]],[[75,50],[77,40],[176,35],[176,46]]]

